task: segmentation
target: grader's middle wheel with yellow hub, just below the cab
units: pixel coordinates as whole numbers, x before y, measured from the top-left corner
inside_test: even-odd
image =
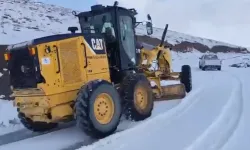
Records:
[[[143,74],[126,76],[121,85],[126,119],[141,121],[151,116],[154,97],[150,82]]]

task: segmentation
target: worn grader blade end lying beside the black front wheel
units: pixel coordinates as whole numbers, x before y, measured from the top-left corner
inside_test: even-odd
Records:
[[[182,99],[186,96],[185,86],[183,84],[174,84],[162,86],[162,96],[156,98],[156,101]]]

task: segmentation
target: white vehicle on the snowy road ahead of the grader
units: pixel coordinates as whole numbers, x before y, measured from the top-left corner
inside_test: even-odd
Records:
[[[204,54],[199,58],[199,68],[202,70],[217,69],[221,70],[222,61],[216,54]]]

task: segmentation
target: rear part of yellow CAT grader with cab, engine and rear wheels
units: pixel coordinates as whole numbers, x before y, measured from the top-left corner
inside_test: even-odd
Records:
[[[151,116],[151,77],[138,71],[136,14],[118,2],[94,5],[73,12],[80,33],[69,27],[71,33],[8,46],[14,106],[27,129],[42,132],[76,120],[87,135],[103,138],[116,131],[122,115],[134,121]],[[147,29],[151,35],[151,20]]]

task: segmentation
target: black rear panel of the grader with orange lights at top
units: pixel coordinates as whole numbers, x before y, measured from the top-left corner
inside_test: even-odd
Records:
[[[14,89],[36,88],[40,82],[39,62],[31,42],[8,46],[5,60],[10,71],[10,84]]]

